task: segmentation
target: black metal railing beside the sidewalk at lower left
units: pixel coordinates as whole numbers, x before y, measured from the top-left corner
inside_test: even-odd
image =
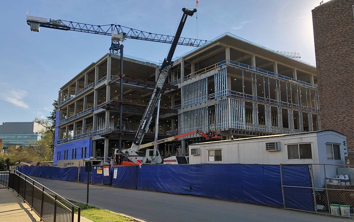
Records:
[[[44,222],[80,222],[80,207],[17,170],[0,170],[0,189],[12,189]]]

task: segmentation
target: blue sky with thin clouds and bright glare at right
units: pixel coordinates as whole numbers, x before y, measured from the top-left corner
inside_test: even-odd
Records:
[[[95,25],[120,24],[174,35],[182,8],[195,0],[2,0],[0,1],[0,124],[48,116],[59,88],[109,52],[110,37],[40,28],[31,32],[28,15]],[[199,0],[182,37],[211,40],[230,32],[279,51],[296,51],[315,64],[311,10],[320,0]],[[326,1],[325,1],[326,2]],[[198,18],[197,18],[198,16]],[[127,39],[124,54],[164,60],[170,45]],[[194,47],[178,45],[175,56]]]

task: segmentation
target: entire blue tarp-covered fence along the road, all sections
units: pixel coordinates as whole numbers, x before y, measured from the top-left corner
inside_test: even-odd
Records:
[[[102,173],[98,167],[102,167]],[[22,166],[19,171],[48,179],[76,181],[78,178],[77,167]],[[258,164],[143,165],[141,168],[120,166],[110,167],[109,176],[103,175],[103,166],[93,166],[89,182],[119,188],[314,210],[312,189],[297,188],[311,187],[308,165],[282,165],[281,170],[280,165]],[[80,168],[80,182],[87,183],[85,167]]]

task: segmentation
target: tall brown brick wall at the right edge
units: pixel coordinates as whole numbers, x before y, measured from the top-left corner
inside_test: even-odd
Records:
[[[347,136],[354,156],[353,0],[332,0],[312,10],[321,128]]]

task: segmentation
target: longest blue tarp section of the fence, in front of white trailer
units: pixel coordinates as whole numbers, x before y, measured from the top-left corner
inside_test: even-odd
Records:
[[[283,206],[276,165],[143,165],[137,189]]]

